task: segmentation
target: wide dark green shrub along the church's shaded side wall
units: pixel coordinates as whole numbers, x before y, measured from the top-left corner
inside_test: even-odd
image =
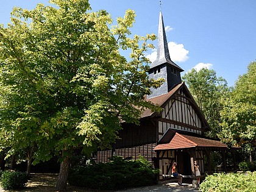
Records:
[[[157,169],[140,157],[138,160],[124,160],[113,157],[110,163],[96,163],[71,170],[68,182],[70,185],[101,190],[119,190],[130,187],[141,187],[157,183]]]

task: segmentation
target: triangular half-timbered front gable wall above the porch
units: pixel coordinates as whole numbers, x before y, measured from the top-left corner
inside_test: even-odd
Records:
[[[184,85],[162,105],[162,113],[158,117],[155,116],[158,122],[158,139],[169,127],[199,135],[208,130],[207,121],[200,110],[197,111],[199,108],[190,96]]]

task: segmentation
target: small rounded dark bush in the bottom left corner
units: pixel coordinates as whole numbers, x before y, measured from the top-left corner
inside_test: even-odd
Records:
[[[4,171],[1,176],[1,185],[4,190],[19,190],[24,188],[28,175],[24,172]]]

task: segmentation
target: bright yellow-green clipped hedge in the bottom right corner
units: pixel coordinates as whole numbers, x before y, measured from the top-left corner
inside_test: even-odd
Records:
[[[256,172],[246,174],[224,174],[218,173],[207,176],[200,185],[202,192],[255,192],[256,191]]]

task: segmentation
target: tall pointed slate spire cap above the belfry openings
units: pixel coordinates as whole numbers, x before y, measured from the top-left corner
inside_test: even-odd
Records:
[[[176,65],[174,62],[172,62],[169,55],[168,43],[165,34],[165,25],[163,24],[163,15],[161,11],[159,15],[157,39],[157,59],[151,64],[151,68],[155,68],[156,66],[162,65],[163,63],[169,63],[170,65],[174,66],[174,68],[182,72],[183,69]]]

